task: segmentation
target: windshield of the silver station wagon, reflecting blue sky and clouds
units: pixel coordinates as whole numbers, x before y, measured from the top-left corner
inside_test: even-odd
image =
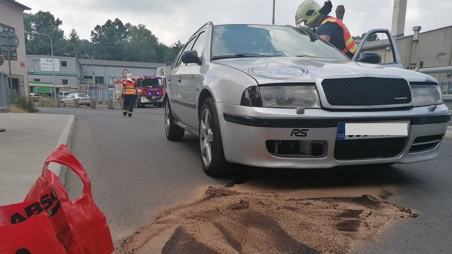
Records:
[[[271,56],[348,59],[332,45],[305,29],[265,25],[215,26],[211,55],[212,60]]]

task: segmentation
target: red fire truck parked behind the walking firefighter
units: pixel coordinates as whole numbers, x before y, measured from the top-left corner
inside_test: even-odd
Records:
[[[138,88],[138,94],[135,99],[135,107],[142,108],[146,105],[153,105],[162,108],[163,97],[165,96],[165,88],[161,85],[162,77],[158,76],[138,76],[133,77],[133,81]],[[116,80],[116,89],[122,88],[122,82],[126,79]],[[119,98],[121,100],[121,98]]]

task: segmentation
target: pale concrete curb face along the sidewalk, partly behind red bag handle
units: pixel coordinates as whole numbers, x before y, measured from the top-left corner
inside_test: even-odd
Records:
[[[66,123],[66,126],[63,129],[63,132],[60,135],[60,139],[58,140],[58,143],[55,147],[58,148],[60,144],[67,144],[68,149],[71,150],[72,148],[72,141],[74,140],[74,124],[75,124],[75,116],[70,115],[68,122]],[[58,175],[58,178],[60,178],[61,183],[64,187],[66,187],[66,178],[68,174],[68,167],[58,164],[58,163],[51,163],[49,165],[49,169],[52,170],[56,175]]]

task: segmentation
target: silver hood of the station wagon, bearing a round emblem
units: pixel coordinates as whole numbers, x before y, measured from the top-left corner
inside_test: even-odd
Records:
[[[411,82],[435,80],[422,73],[397,67],[351,60],[307,57],[228,58],[213,61],[241,70],[258,84],[316,82],[325,78],[403,78]]]

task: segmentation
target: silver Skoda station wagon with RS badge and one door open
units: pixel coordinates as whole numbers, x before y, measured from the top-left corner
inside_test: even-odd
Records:
[[[197,136],[210,176],[232,165],[317,169],[427,161],[438,156],[450,114],[437,81],[391,61],[353,59],[291,26],[206,23],[176,57],[165,132]],[[382,41],[383,42],[383,41]],[[386,58],[386,56],[385,56]]]

